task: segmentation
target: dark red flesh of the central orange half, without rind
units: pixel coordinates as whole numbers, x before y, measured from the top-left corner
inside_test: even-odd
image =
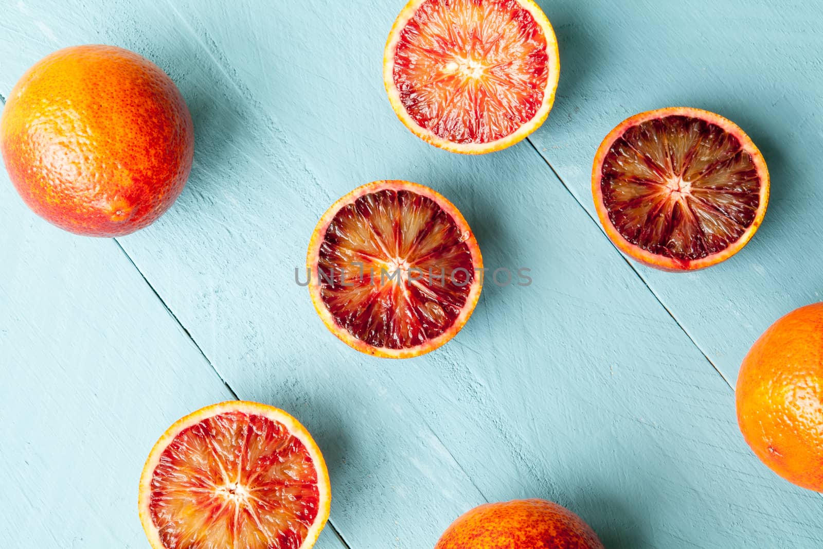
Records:
[[[337,212],[320,246],[323,304],[373,347],[421,345],[466,305],[476,276],[468,237],[430,198],[391,189],[365,194]]]

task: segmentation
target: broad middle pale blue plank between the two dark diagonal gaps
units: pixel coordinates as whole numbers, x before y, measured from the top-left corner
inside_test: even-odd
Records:
[[[351,547],[432,547],[468,507],[526,496],[569,506],[610,549],[820,547],[823,501],[748,452],[723,379],[528,143],[463,158],[395,119],[380,57],[401,7],[48,2],[3,22],[0,93],[51,49],[83,42],[134,49],[179,83],[193,177],[156,226],[120,242],[239,396],[286,407],[313,432]],[[556,114],[550,127],[563,126]],[[488,266],[534,278],[487,284],[467,328],[412,361],[337,342],[294,281],[323,210],[387,177],[437,188]]]

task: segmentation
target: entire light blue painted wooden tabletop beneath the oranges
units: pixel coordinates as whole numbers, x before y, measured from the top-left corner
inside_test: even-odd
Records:
[[[137,481],[179,416],[227,398],[303,421],[332,514],[319,549],[433,547],[483,501],[556,500],[608,549],[823,547],[823,498],[737,430],[751,342],[821,300],[823,5],[541,0],[560,41],[554,110],[506,151],[463,157],[388,105],[398,2],[0,0],[0,95],[72,44],[163,67],[192,111],[170,212],[116,240],[68,235],[0,175],[0,545],[148,547]],[[769,163],[755,239],[718,267],[653,272],[593,212],[594,151],[670,105],[737,122]],[[295,268],[315,222],[374,179],[444,193],[488,268],[452,342],[373,359],[323,327]]]

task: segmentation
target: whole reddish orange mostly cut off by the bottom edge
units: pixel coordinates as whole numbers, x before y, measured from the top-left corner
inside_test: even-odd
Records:
[[[435,549],[603,549],[592,528],[546,500],[487,503],[463,514]]]

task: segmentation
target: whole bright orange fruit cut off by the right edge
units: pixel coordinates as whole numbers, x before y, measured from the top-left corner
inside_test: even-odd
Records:
[[[765,331],[737,377],[737,424],[772,471],[823,491],[823,303]]]

